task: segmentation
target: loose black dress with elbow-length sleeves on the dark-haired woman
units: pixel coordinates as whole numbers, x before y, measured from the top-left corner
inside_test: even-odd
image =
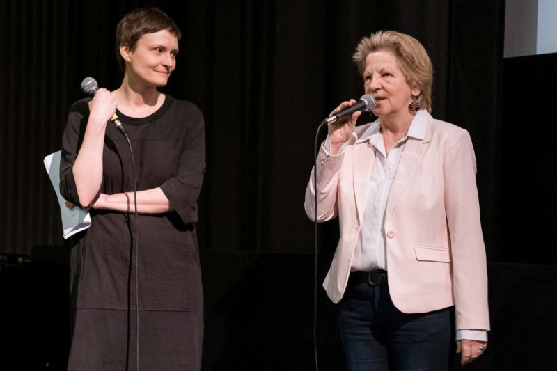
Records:
[[[72,106],[63,136],[61,194],[77,205],[72,165],[89,100]],[[203,292],[194,223],[205,173],[203,116],[166,95],[146,118],[118,117],[132,144],[137,190],[161,187],[175,212],[140,214],[136,223],[134,214],[90,210],[91,227],[72,249],[68,370],[136,370],[138,359],[140,370],[199,370]],[[133,172],[125,136],[108,124],[100,193],[133,191]]]

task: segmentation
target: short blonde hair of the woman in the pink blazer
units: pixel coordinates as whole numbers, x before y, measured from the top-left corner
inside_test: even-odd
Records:
[[[395,54],[407,84],[411,87],[418,86],[421,90],[418,95],[421,108],[431,112],[433,68],[423,45],[410,35],[396,31],[378,31],[362,38],[356,52],[352,54],[352,60],[358,65],[362,76],[368,54],[378,50],[389,50]]]

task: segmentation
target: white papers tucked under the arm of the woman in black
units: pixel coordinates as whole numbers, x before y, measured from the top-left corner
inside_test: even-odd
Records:
[[[67,239],[71,235],[86,230],[91,226],[91,216],[85,210],[75,206],[72,209],[66,207],[65,199],[60,194],[60,155],[61,151],[54,152],[45,157],[45,168],[52,182],[52,187],[58,197],[60,211],[62,216],[62,229],[64,238]]]

